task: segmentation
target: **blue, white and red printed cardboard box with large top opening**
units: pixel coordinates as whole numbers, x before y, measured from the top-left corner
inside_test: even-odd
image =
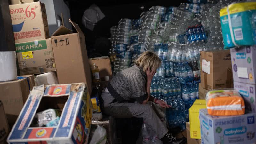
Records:
[[[62,109],[58,126],[30,127],[35,114],[49,108]],[[84,83],[35,86],[7,141],[87,144],[91,118],[92,104]]]

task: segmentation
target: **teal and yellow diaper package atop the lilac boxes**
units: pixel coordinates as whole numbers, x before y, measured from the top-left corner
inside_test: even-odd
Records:
[[[232,3],[220,10],[224,49],[256,44],[256,2]]]

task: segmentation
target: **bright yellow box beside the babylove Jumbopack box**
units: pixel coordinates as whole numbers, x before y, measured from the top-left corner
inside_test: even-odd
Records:
[[[201,139],[199,110],[206,108],[205,100],[196,100],[189,108],[190,138]]]

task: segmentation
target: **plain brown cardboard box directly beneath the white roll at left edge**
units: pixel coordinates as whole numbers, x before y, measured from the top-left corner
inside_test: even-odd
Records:
[[[29,87],[27,78],[0,82],[0,100],[4,104],[9,124],[13,124],[19,116],[28,98]]]

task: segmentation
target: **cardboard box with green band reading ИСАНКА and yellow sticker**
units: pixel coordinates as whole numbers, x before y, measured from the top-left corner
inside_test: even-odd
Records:
[[[56,71],[51,39],[16,43],[20,75]]]

